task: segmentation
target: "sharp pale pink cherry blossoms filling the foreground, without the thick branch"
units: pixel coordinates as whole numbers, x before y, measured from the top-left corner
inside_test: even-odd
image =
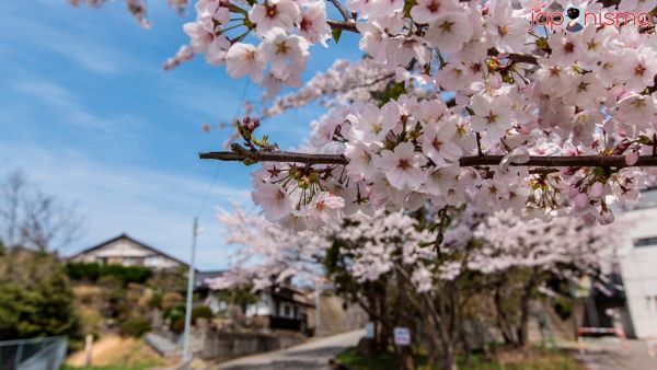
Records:
[[[142,0],[126,1],[143,14]],[[253,199],[268,220],[316,228],[357,211],[413,210],[428,199],[436,207],[473,203],[526,218],[569,213],[611,223],[611,204],[636,200],[654,175],[633,166],[657,151],[655,27],[585,23],[570,32],[532,22],[569,7],[649,12],[657,0],[330,3],[342,20],[330,20],[322,0],[197,0],[195,21],[184,25],[189,46],[165,65],[205,54],[210,65],[251,78],[274,97],[284,85],[301,86],[314,44],[359,34],[364,61],[337,62],[264,112],[330,96],[335,104],[304,151],[349,161],[265,163],[254,173]],[[372,81],[383,94],[371,93]],[[256,149],[252,134],[244,139]],[[465,157],[487,155],[504,159],[462,166]],[[629,167],[522,165],[544,155],[622,155]]]

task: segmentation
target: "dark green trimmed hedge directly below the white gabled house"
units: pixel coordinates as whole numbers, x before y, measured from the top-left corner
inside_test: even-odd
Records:
[[[79,262],[68,263],[66,273],[71,280],[77,281],[97,281],[104,276],[114,276],[124,285],[129,282],[145,284],[152,275],[152,270],[143,266],[100,265]]]

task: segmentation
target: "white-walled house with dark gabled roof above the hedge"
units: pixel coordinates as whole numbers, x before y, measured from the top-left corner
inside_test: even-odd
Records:
[[[68,258],[70,262],[145,266],[154,269],[188,266],[185,262],[147,245],[127,234],[88,247]]]

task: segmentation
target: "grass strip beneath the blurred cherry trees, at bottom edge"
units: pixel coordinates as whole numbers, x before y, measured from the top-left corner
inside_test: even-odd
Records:
[[[396,354],[387,352],[377,357],[364,357],[356,354],[355,348],[349,348],[337,356],[339,363],[353,370],[396,370],[399,359]],[[463,357],[459,357],[459,369],[463,370],[581,370],[584,369],[570,355],[558,350],[509,350],[502,349],[496,352],[495,359],[474,354],[470,365],[465,366]],[[415,365],[422,370],[433,370],[427,365],[426,356],[415,358]],[[437,369],[437,368],[436,368]]]

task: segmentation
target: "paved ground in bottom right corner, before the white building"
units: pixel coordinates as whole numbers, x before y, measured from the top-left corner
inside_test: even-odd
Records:
[[[588,370],[655,370],[657,358],[648,355],[644,340],[627,340],[626,349],[620,342],[588,339],[584,355],[576,355]],[[656,348],[657,349],[657,348]]]

